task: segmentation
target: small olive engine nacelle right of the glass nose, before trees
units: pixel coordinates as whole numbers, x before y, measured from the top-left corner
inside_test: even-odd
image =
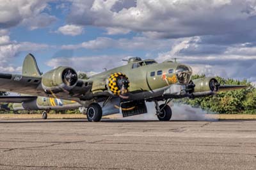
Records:
[[[202,92],[216,92],[219,90],[220,84],[214,77],[204,77],[193,80],[195,84],[194,94]]]

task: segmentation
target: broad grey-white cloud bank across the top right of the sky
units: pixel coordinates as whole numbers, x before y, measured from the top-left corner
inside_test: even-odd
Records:
[[[255,1],[72,1],[70,24],[118,27],[154,37],[222,35],[253,31]]]

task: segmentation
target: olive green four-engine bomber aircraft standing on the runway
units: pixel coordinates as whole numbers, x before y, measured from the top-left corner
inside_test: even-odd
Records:
[[[246,88],[220,85],[214,77],[192,81],[191,75],[191,67],[181,63],[130,58],[127,65],[85,80],[78,79],[69,66],[59,66],[43,74],[34,56],[28,54],[21,75],[0,73],[0,91],[76,101],[87,108],[88,121],[100,121],[102,116],[117,112],[124,117],[147,113],[145,102],[154,102],[157,118],[169,121],[172,109],[168,104],[173,98],[205,97],[221,90]],[[159,105],[160,101],[163,104]]]

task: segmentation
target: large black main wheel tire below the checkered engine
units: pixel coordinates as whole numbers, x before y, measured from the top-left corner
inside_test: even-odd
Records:
[[[100,121],[102,118],[102,109],[99,104],[90,104],[86,111],[88,121]]]

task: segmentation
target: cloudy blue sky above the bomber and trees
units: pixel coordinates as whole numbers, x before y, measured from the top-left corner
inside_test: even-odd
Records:
[[[102,72],[138,56],[256,82],[256,1],[0,0],[0,72],[29,52],[42,72]]]

